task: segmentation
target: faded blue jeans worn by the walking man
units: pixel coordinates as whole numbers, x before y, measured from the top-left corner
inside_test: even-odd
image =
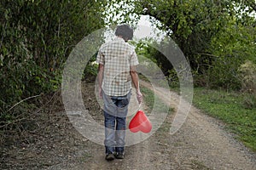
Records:
[[[130,98],[131,92],[125,96],[108,96],[103,93],[106,154],[124,152],[126,116]]]

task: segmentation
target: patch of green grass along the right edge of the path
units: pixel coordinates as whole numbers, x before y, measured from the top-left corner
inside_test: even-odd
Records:
[[[198,109],[224,122],[243,144],[256,151],[256,108],[246,108],[244,95],[206,88],[194,90],[193,103]]]

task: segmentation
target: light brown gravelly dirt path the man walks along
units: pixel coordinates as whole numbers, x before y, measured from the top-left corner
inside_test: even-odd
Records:
[[[152,88],[146,82],[143,86]],[[93,89],[88,84],[86,87]],[[160,99],[169,102],[165,89],[154,90]],[[175,112],[178,104],[179,96],[172,93],[168,105]],[[255,154],[225,132],[221,123],[192,107],[183,127],[170,135],[174,116],[168,115],[160,129],[147,140],[126,147],[124,160],[105,161],[103,146],[87,140],[75,159],[46,169],[256,169]],[[102,123],[102,117],[99,122]]]

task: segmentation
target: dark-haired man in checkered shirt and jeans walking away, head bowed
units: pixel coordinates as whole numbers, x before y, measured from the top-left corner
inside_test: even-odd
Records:
[[[99,94],[104,101],[106,160],[123,159],[125,151],[125,122],[131,99],[131,82],[136,88],[140,104],[140,92],[135,48],[129,43],[133,30],[128,25],[117,26],[115,38],[102,44],[96,57],[99,64]]]

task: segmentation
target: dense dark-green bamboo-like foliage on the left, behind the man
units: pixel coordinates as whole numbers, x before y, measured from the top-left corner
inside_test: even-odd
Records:
[[[1,1],[2,121],[10,117],[5,111],[19,100],[59,88],[70,50],[104,25],[105,4],[96,0]]]

